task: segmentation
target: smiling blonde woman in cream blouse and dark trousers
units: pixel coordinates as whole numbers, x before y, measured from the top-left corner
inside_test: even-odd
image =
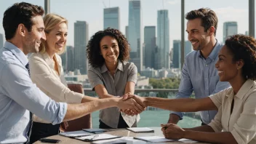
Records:
[[[60,15],[48,14],[44,17],[44,31],[47,41],[41,41],[39,53],[29,57],[31,79],[41,91],[57,102],[86,103],[98,100],[68,89],[63,76],[61,58],[65,52],[68,35],[68,21]],[[60,124],[52,125],[49,121],[33,117],[31,143],[42,137],[59,133]]]

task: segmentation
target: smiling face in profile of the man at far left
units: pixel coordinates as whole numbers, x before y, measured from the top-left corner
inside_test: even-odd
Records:
[[[31,28],[31,31],[28,32],[28,35],[25,36],[25,41],[23,41],[23,44],[25,45],[25,54],[28,52],[39,52],[39,47],[41,44],[42,39],[46,39],[45,33],[44,33],[44,20],[41,17],[41,15],[38,15],[36,17],[32,18],[33,25]]]

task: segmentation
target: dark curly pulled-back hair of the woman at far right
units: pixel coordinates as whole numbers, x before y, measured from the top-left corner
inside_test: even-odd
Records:
[[[225,40],[233,54],[233,61],[244,60],[242,75],[245,79],[256,80],[256,40],[252,36],[236,34]]]

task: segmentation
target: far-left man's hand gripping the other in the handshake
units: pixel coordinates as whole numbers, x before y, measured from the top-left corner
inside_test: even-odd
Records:
[[[135,115],[144,111],[144,108],[139,105],[134,99],[129,98],[127,100],[119,100],[118,107],[122,110],[129,109],[134,112]]]

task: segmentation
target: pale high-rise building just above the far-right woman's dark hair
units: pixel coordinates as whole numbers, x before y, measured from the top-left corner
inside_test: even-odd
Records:
[[[236,22],[225,22],[223,25],[223,43],[228,36],[237,34],[237,23]]]

